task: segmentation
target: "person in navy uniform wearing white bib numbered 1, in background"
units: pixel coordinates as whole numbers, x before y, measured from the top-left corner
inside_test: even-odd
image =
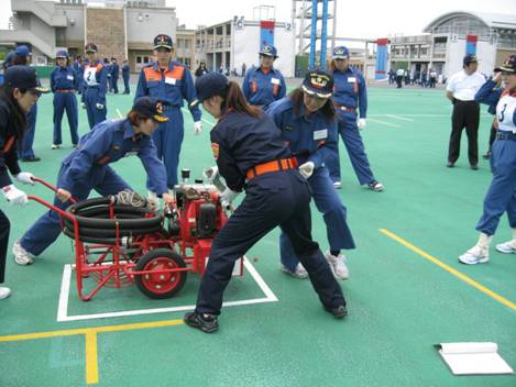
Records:
[[[106,90],[108,85],[108,68],[98,58],[98,48],[94,43],[85,47],[88,64],[83,73],[81,106],[88,114],[89,128],[106,120]]]

